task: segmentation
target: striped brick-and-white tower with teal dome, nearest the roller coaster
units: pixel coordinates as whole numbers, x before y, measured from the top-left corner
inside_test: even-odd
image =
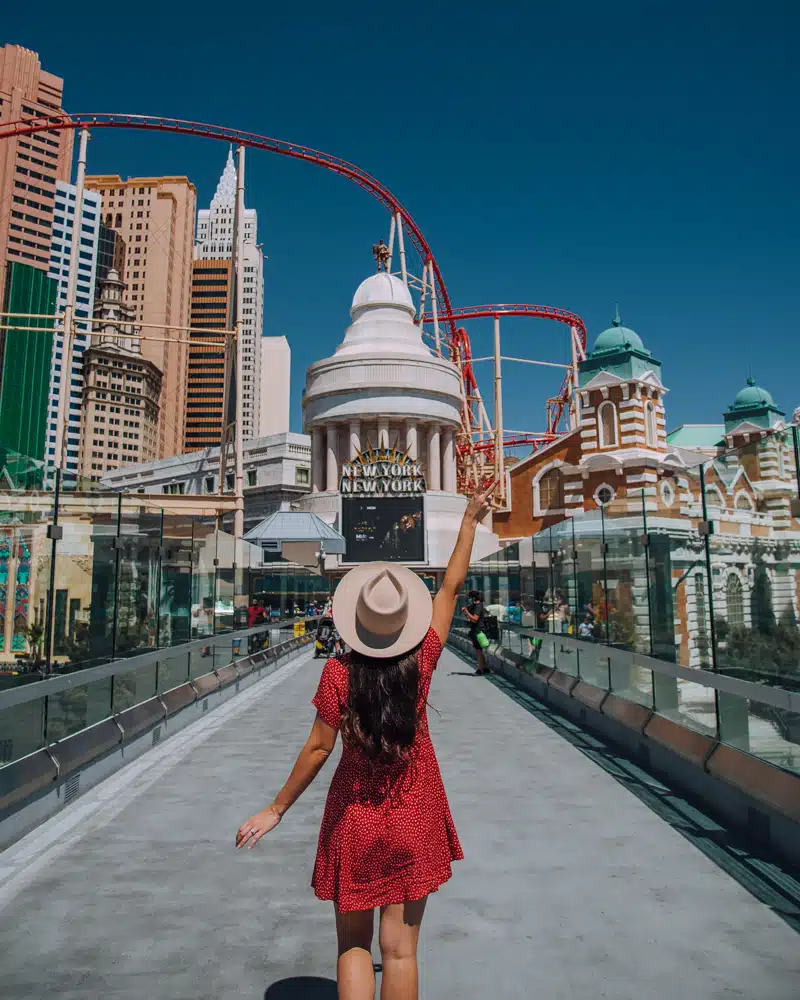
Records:
[[[579,366],[582,451],[667,450],[661,362],[619,314]]]

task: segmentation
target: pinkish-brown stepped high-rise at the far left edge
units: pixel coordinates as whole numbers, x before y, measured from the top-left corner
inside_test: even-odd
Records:
[[[39,56],[0,46],[0,122],[62,112],[64,81]],[[46,271],[50,265],[56,181],[69,181],[72,132],[36,132],[0,142],[0,302],[10,261]]]

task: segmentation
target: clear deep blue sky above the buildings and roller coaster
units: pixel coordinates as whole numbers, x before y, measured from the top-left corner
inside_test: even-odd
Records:
[[[663,362],[670,427],[719,420],[751,372],[784,410],[800,405],[795,0],[270,3],[238,17],[174,3],[141,21],[125,5],[7,6],[0,41],[65,78],[68,110],[221,123],[364,167],[410,209],[456,304],[561,306],[591,343],[619,301]],[[203,205],[226,153],[97,132],[90,171],[187,174]],[[340,341],[388,220],[349,182],[266,153],[250,154],[247,200],[300,429],[305,367]],[[504,353],[567,360],[556,324],[503,329]],[[488,322],[470,332],[488,353]],[[557,382],[508,366],[506,426],[541,428]]]

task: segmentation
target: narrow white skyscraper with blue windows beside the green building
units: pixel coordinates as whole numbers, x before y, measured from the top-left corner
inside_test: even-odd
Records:
[[[50,245],[50,277],[56,282],[56,311],[63,312],[72,258],[72,232],[75,221],[75,185],[56,181],[53,238]],[[92,327],[81,318],[92,315],[95,299],[100,198],[94,191],[84,192],[83,218],[78,236],[78,280],[75,286],[75,339],[72,346],[72,372],[64,370],[64,331],[56,326],[50,368],[50,392],[47,406],[47,442],[45,456],[53,461],[56,453],[58,401],[65,382],[69,399],[64,410],[67,426],[64,441],[64,468],[77,473],[81,433],[81,396],[83,393],[83,352],[90,343]]]

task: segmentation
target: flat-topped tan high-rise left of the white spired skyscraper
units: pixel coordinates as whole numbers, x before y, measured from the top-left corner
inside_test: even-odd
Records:
[[[158,457],[183,451],[192,285],[192,246],[197,192],[186,177],[87,177],[99,192],[102,222],[125,240],[126,288],[123,301],[135,309],[142,333],[142,357],[163,372],[158,427]],[[163,324],[163,327],[162,327]]]

